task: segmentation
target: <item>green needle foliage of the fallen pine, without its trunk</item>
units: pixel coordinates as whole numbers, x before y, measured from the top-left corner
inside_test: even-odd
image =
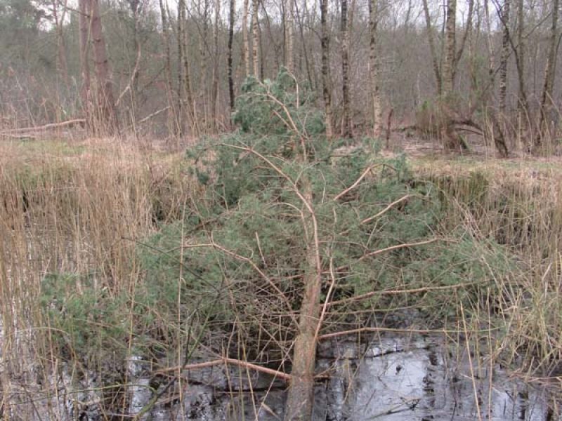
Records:
[[[263,84],[249,79],[243,90],[235,115],[240,131],[189,152],[190,159],[206,164],[204,169],[197,167],[197,175],[207,187],[207,198],[195,203],[185,221],[152,236],[150,247],[140,250],[148,288],[183,282],[181,288],[172,288],[169,298],[158,299],[161,308],[162,303],[171,307],[176,302],[185,302],[188,308],[192,297],[208,295],[204,314],[222,321],[237,317],[247,329],[260,330],[278,321],[268,325],[263,307],[254,300],[267,300],[268,312],[287,311],[284,300],[271,295],[274,283],[287,291],[290,306],[298,310],[302,279],[310,269],[304,258],[311,242],[302,201],[305,190],[310,190],[318,221],[322,265],[339,268],[336,297],[398,285],[418,288],[492,280],[490,260],[483,260],[476,239],[464,231],[447,243],[370,256],[438,236],[447,210],[438,189],[431,182],[413,180],[404,156],[382,159],[370,139],[358,140],[351,148],[327,140],[317,123],[322,118],[308,102],[311,96],[298,91],[285,72]],[[287,121],[297,123],[291,128]],[[364,173],[367,176],[348,189]],[[480,182],[469,182],[478,185],[469,194],[471,201],[478,200]],[[388,203],[404,196],[407,199],[383,212]],[[502,272],[502,266],[492,267]],[[223,291],[221,305],[210,298],[218,290]],[[433,295],[431,305],[440,308],[449,299],[448,293]],[[396,307],[407,300],[374,298],[362,305]]]

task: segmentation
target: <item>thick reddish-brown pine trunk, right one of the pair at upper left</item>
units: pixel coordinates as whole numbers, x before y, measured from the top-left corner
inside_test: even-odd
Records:
[[[93,44],[93,60],[96,67],[96,81],[98,88],[98,109],[100,123],[104,129],[113,133],[117,130],[117,115],[115,114],[115,100],[113,98],[113,83],[110,73],[109,60],[105,48],[105,38],[100,17],[98,0],[90,1],[90,31]]]

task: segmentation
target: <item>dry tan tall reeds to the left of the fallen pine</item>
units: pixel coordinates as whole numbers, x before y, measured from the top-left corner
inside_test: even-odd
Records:
[[[37,400],[38,379],[48,386],[61,356],[74,352],[60,348],[42,311],[48,274],[65,276],[53,290],[57,295],[93,293],[91,311],[96,300],[133,296],[139,279],[135,241],[178,218],[194,192],[180,161],[181,155],[113,139],[0,144],[1,373],[4,406],[12,414],[48,406],[49,399]],[[126,330],[133,315],[126,308],[120,313]],[[94,337],[103,330],[89,326]],[[107,356],[100,351],[93,350],[89,369],[107,362],[100,361]],[[41,396],[57,391],[51,385]],[[60,416],[56,409],[49,408],[53,419]]]

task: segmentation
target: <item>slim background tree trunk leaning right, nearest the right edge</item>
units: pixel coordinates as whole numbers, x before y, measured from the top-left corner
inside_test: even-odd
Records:
[[[554,102],[552,95],[554,93],[554,69],[556,67],[556,50],[557,50],[557,34],[558,34],[558,13],[559,0],[552,1],[552,20],[549,36],[549,53],[547,55],[547,65],[544,69],[544,85],[540,100],[540,120],[538,135],[535,138],[535,147],[544,145],[544,138],[549,135],[549,129],[552,123],[552,114],[554,114]]]

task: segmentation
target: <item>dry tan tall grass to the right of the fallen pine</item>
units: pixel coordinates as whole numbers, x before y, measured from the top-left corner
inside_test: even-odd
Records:
[[[476,321],[499,335],[491,352],[528,380],[562,373],[562,172],[535,161],[419,162],[449,209],[446,229],[469,227],[518,257],[497,288],[482,293]],[[490,270],[492,274],[492,270]]]

